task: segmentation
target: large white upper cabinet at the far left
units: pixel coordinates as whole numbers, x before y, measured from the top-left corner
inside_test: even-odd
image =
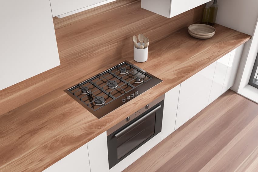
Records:
[[[0,90],[59,66],[49,0],[1,1]]]

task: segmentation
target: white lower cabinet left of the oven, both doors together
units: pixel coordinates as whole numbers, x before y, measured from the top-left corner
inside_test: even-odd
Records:
[[[108,172],[107,132],[59,160],[43,172]]]

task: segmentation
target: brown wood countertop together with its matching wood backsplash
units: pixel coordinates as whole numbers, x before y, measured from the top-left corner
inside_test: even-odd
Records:
[[[49,167],[250,39],[221,25],[211,39],[195,39],[186,26],[199,21],[201,7],[166,19],[140,4],[117,1],[54,19],[61,66],[0,91],[0,171]],[[131,37],[141,32],[149,54],[137,63]],[[124,60],[163,82],[101,119],[64,92]]]

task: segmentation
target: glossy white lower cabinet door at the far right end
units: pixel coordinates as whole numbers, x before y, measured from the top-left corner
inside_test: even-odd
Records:
[[[237,47],[231,52],[226,78],[223,84],[222,93],[225,93],[229,88],[231,88],[234,85],[234,82],[236,79],[236,73],[237,73],[239,62],[243,52],[243,46],[244,44]]]

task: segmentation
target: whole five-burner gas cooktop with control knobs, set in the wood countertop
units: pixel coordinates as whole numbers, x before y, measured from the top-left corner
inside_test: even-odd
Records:
[[[97,118],[101,118],[161,82],[125,61],[65,92]]]

